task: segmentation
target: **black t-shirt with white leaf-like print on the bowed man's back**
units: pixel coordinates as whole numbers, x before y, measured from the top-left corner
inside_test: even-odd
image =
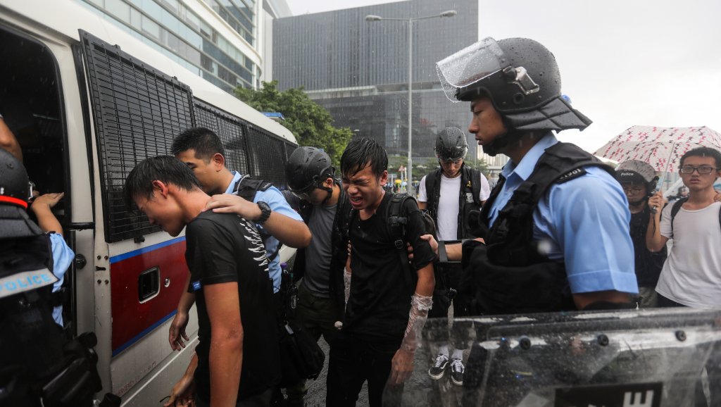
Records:
[[[198,397],[210,400],[211,323],[203,286],[238,283],[243,324],[243,366],[238,399],[262,393],[280,382],[278,331],[273,313],[273,286],[268,261],[257,229],[233,214],[206,211],[193,219],[185,231],[185,260],[190,268],[190,292],[198,307],[198,338],[195,348]]]

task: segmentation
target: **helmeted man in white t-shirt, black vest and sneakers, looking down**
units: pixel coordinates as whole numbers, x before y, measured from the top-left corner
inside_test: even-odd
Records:
[[[420,180],[418,189],[418,207],[428,209],[438,228],[438,240],[461,240],[474,237],[469,231],[466,220],[470,211],[479,211],[490,196],[488,180],[479,171],[464,165],[468,152],[466,135],[460,128],[447,127],[435,139],[435,157],[439,168]],[[443,264],[436,270],[434,307],[428,313],[429,318],[448,318],[448,308],[459,287],[461,264]],[[454,317],[468,315],[463,304],[454,302]],[[462,336],[454,335],[458,343],[454,344],[454,353],[448,351],[446,343],[438,349],[435,363],[428,370],[434,380],[440,380],[450,364],[451,381],[463,385],[463,349]]]

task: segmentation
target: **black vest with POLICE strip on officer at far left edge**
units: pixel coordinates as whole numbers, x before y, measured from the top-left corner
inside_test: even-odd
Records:
[[[53,320],[53,266],[48,235],[0,240],[0,407],[90,407],[102,388],[94,333]]]

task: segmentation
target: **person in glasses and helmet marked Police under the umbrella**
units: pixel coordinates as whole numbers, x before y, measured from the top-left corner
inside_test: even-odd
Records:
[[[629,201],[631,220],[629,232],[634,248],[634,264],[638,281],[638,304],[642,308],[656,307],[658,295],[656,283],[666,260],[666,248],[652,252],[646,248],[646,231],[651,221],[648,198],[653,196],[658,177],[656,171],[645,162],[632,159],[616,167],[616,180],[621,183]]]

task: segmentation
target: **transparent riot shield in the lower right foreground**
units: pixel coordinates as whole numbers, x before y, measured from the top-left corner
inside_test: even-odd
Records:
[[[428,375],[446,343],[465,348],[463,385]],[[428,320],[402,405],[700,407],[720,393],[721,312],[665,308]]]

